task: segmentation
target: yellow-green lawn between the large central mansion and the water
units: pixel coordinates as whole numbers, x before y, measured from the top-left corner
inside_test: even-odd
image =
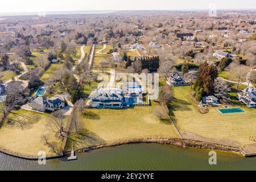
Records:
[[[170,122],[160,121],[152,113],[154,105],[153,102],[152,106],[133,109],[87,109],[86,117],[80,115],[80,118],[93,137],[82,147],[143,137],[177,138],[174,126]]]

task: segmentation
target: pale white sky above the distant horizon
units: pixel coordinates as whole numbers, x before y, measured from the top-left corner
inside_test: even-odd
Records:
[[[256,9],[255,0],[1,0],[0,13],[86,10]]]

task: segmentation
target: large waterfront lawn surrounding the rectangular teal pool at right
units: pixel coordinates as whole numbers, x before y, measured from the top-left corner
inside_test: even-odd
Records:
[[[249,109],[236,100],[237,93],[230,93],[234,104],[229,107],[240,107],[245,113],[220,114],[210,107],[208,114],[200,114],[197,105],[192,104],[189,86],[175,87],[175,102],[172,104],[172,115],[181,131],[186,131],[210,139],[222,139],[237,142],[241,147],[253,144],[250,136],[256,133],[256,110]]]

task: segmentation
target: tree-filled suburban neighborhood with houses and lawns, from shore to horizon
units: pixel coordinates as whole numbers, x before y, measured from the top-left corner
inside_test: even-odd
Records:
[[[0,18],[0,151],[77,159],[169,143],[256,155],[256,12],[219,14]]]

